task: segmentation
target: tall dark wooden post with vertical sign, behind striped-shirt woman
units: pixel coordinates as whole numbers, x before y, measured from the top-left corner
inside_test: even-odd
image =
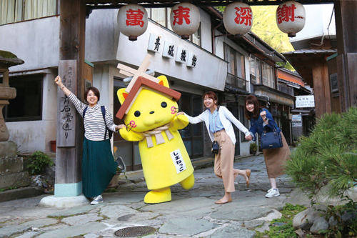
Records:
[[[66,86],[83,101],[86,4],[84,0],[60,1],[59,74],[67,76]],[[71,76],[71,77],[69,77]],[[69,81],[69,78],[71,80]],[[69,85],[71,84],[71,85]],[[82,193],[81,155],[83,119],[58,91],[55,197],[76,197]],[[68,100],[68,99],[67,99]],[[69,102],[71,104],[71,102]],[[64,109],[66,106],[66,109]],[[66,110],[70,111],[66,111]],[[64,114],[64,111],[70,114]],[[69,116],[69,117],[68,117]],[[65,117],[65,118],[64,118]],[[71,121],[71,124],[66,124]],[[71,130],[65,130],[64,127]],[[69,133],[65,133],[69,132]]]

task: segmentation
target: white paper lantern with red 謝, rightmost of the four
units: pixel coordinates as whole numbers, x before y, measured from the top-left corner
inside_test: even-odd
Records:
[[[278,28],[287,33],[289,37],[295,37],[296,32],[305,26],[305,9],[296,1],[286,1],[276,9],[276,23]]]

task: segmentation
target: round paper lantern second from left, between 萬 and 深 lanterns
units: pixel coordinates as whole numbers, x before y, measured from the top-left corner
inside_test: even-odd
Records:
[[[193,4],[177,4],[171,9],[170,23],[181,39],[188,39],[200,26],[200,12]]]

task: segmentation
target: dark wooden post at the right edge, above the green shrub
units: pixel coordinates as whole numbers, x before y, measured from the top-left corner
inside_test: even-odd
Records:
[[[341,111],[357,104],[357,1],[336,0],[338,83]]]

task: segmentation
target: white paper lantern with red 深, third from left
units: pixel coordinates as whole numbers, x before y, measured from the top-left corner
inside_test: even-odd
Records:
[[[229,4],[223,12],[223,24],[230,34],[246,34],[253,25],[251,7],[239,1]]]

